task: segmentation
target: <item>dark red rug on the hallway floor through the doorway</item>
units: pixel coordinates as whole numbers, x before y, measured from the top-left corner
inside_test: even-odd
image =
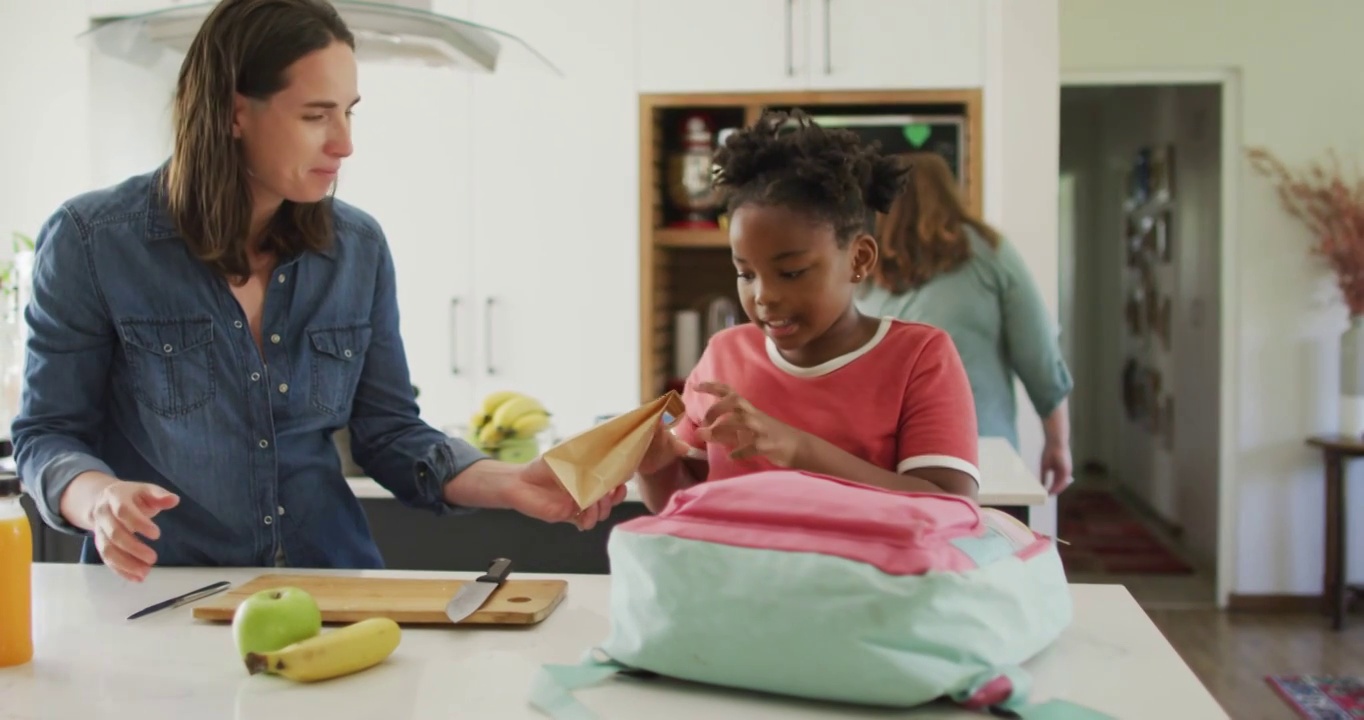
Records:
[[[1061,495],[1057,537],[1067,573],[1178,575],[1194,567],[1170,551],[1136,511],[1103,488]],[[1069,543],[1069,544],[1067,544]]]

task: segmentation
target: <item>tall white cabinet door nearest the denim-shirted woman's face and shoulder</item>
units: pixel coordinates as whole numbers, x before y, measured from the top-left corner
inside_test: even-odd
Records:
[[[421,416],[434,427],[453,427],[472,410],[477,382],[471,78],[443,68],[361,63],[359,83],[355,150],[336,195],[383,228]]]

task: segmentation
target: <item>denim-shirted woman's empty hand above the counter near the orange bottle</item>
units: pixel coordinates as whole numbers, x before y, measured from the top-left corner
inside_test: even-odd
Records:
[[[134,582],[142,582],[157,563],[157,552],[140,537],[155,540],[161,528],[151,521],[162,510],[180,505],[180,496],[150,483],[115,481],[95,496],[90,510],[94,547],[104,565]]]

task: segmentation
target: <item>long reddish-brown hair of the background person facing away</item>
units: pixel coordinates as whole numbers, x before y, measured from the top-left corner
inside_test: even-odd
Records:
[[[952,169],[937,153],[903,155],[910,179],[889,211],[880,218],[880,259],[873,277],[892,293],[922,286],[971,256],[966,228],[998,247],[1000,233],[971,214],[962,200]]]

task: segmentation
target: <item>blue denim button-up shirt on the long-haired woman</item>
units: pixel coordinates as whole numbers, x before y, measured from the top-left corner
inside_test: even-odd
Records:
[[[154,518],[157,565],[382,567],[331,434],[366,473],[435,513],[446,480],[484,458],[419,419],[394,269],[379,225],[333,203],[325,252],[281,259],[261,350],[225,280],[162,203],[164,166],[63,205],[37,237],[25,390],[12,434],[44,520],[101,470],[180,505]],[[82,560],[100,562],[93,537]]]

